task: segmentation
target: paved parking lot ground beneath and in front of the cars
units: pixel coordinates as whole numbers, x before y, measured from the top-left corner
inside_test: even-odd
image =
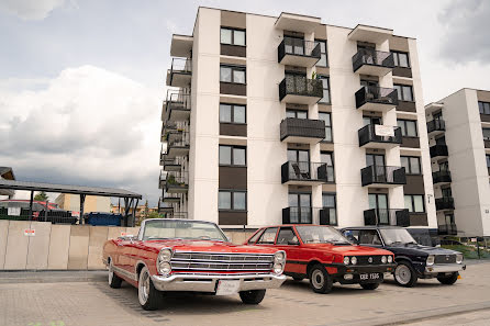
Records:
[[[105,272],[0,273],[0,325],[489,325],[490,263],[470,265],[455,285],[392,279],[376,291],[336,285],[315,294],[288,280],[258,306],[236,296],[172,295],[156,312],[140,307],[136,289],[110,289]]]

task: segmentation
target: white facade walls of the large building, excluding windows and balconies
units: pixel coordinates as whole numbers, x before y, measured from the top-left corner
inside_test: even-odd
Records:
[[[220,31],[223,26],[245,31],[245,57],[222,54]],[[279,63],[278,46],[285,34],[300,35],[305,41],[326,41],[327,67],[312,66],[307,67],[304,71],[304,68]],[[358,44],[364,43],[370,43],[381,52],[408,53],[410,58],[408,70],[412,77],[393,76],[391,68],[388,74],[382,74],[379,78],[355,72],[353,56],[358,52]],[[186,54],[186,48],[192,50]],[[189,176],[188,192],[180,195],[179,203],[171,204],[174,212],[187,212],[189,218],[216,222],[223,227],[243,227],[244,223],[222,223],[224,215],[220,218],[220,214],[223,213],[219,210],[219,190],[222,189],[220,181],[222,183],[229,181],[223,180],[225,176],[219,164],[219,145],[231,145],[246,147],[246,227],[281,224],[282,209],[290,205],[288,194],[291,191],[309,192],[311,207],[320,209],[323,207],[323,193],[335,194],[336,225],[339,227],[364,225],[364,211],[370,209],[368,193],[387,194],[388,207],[402,210],[405,209],[404,189],[410,189],[410,184],[363,187],[360,170],[366,167],[366,154],[378,153],[385,154],[386,166],[393,167],[401,166],[401,155],[420,157],[421,173],[416,178],[423,180],[419,192],[424,201],[424,212],[420,212],[419,217],[411,216],[411,221],[413,218],[422,221],[411,226],[430,229],[437,227],[415,40],[394,36],[391,30],[378,27],[358,25],[353,30],[325,25],[320,19],[302,15],[282,13],[279,18],[275,18],[200,8],[193,35],[174,35],[171,53],[192,59],[190,83],[192,105],[188,123],[190,144],[189,154],[183,158],[183,169]],[[294,63],[294,58],[291,60]],[[220,65],[246,67],[246,95],[222,91]],[[378,69],[378,67],[368,68],[372,70],[366,71],[376,72]],[[285,79],[285,71],[289,69],[301,70],[301,74],[309,79],[314,76],[313,72],[316,76],[328,77],[331,103],[315,102],[301,105],[296,100],[281,101],[278,88]],[[376,79],[378,86],[382,88],[392,88],[393,82],[411,86],[414,94],[414,100],[409,103],[411,109],[402,111],[402,108],[394,109],[392,105],[390,109],[381,110],[381,114],[374,113],[378,111],[376,105],[372,106],[372,111],[356,109],[355,93],[361,87],[361,79]],[[246,105],[246,136],[230,136],[221,132],[220,103]],[[287,106],[308,111],[309,120],[318,120],[319,113],[330,112],[333,142],[320,142],[321,139],[311,142],[307,138],[304,142],[294,140],[298,143],[281,140],[280,125],[286,117]],[[168,116],[165,112],[163,116],[165,114]],[[397,126],[397,120],[416,121],[417,139],[415,137],[412,143],[419,142],[420,146],[396,145],[385,148],[381,145],[378,148],[374,144],[369,149],[360,147],[358,131],[364,126],[364,115],[380,115],[386,126]],[[164,125],[165,121],[164,117]],[[288,160],[288,148],[308,149],[311,162],[320,162],[322,151],[332,153],[335,182],[283,184],[281,166]],[[165,153],[163,158],[166,158]],[[410,180],[408,182],[410,183]],[[163,188],[165,189],[165,186]],[[164,193],[165,195],[167,194]],[[313,211],[312,215],[311,222],[320,223],[318,212]]]

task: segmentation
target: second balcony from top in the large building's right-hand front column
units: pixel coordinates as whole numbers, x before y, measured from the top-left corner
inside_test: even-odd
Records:
[[[398,105],[397,90],[382,87],[361,87],[356,92],[356,108],[364,111],[387,112]]]

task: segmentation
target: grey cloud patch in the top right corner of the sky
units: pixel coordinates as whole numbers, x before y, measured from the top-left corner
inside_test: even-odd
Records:
[[[441,55],[452,63],[490,60],[490,1],[455,0],[438,15],[446,33]]]

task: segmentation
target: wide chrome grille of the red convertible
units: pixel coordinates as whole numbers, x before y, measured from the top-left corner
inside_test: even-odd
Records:
[[[176,251],[170,263],[176,271],[270,271],[274,255]]]

